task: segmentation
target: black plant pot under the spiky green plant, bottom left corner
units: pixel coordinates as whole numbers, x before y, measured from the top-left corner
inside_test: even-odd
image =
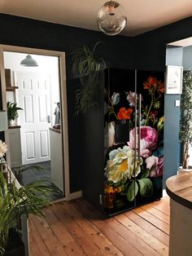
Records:
[[[11,229],[10,239],[7,244],[5,254],[3,256],[24,256],[24,242],[22,241],[20,234]]]

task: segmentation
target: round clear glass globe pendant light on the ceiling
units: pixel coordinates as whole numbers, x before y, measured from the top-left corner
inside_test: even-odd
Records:
[[[109,1],[98,11],[98,28],[109,36],[120,33],[127,24],[124,7],[119,2]]]

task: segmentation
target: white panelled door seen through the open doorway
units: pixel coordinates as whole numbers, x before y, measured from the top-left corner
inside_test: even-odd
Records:
[[[50,77],[15,72],[23,165],[50,160]]]

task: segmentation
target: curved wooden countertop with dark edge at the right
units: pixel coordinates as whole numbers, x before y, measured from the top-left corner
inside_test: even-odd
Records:
[[[172,200],[192,210],[192,172],[168,178],[166,191]]]

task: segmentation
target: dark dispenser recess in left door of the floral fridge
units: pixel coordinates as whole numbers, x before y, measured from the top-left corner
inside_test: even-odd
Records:
[[[129,119],[120,119],[115,122],[115,141],[124,143],[129,141]]]

